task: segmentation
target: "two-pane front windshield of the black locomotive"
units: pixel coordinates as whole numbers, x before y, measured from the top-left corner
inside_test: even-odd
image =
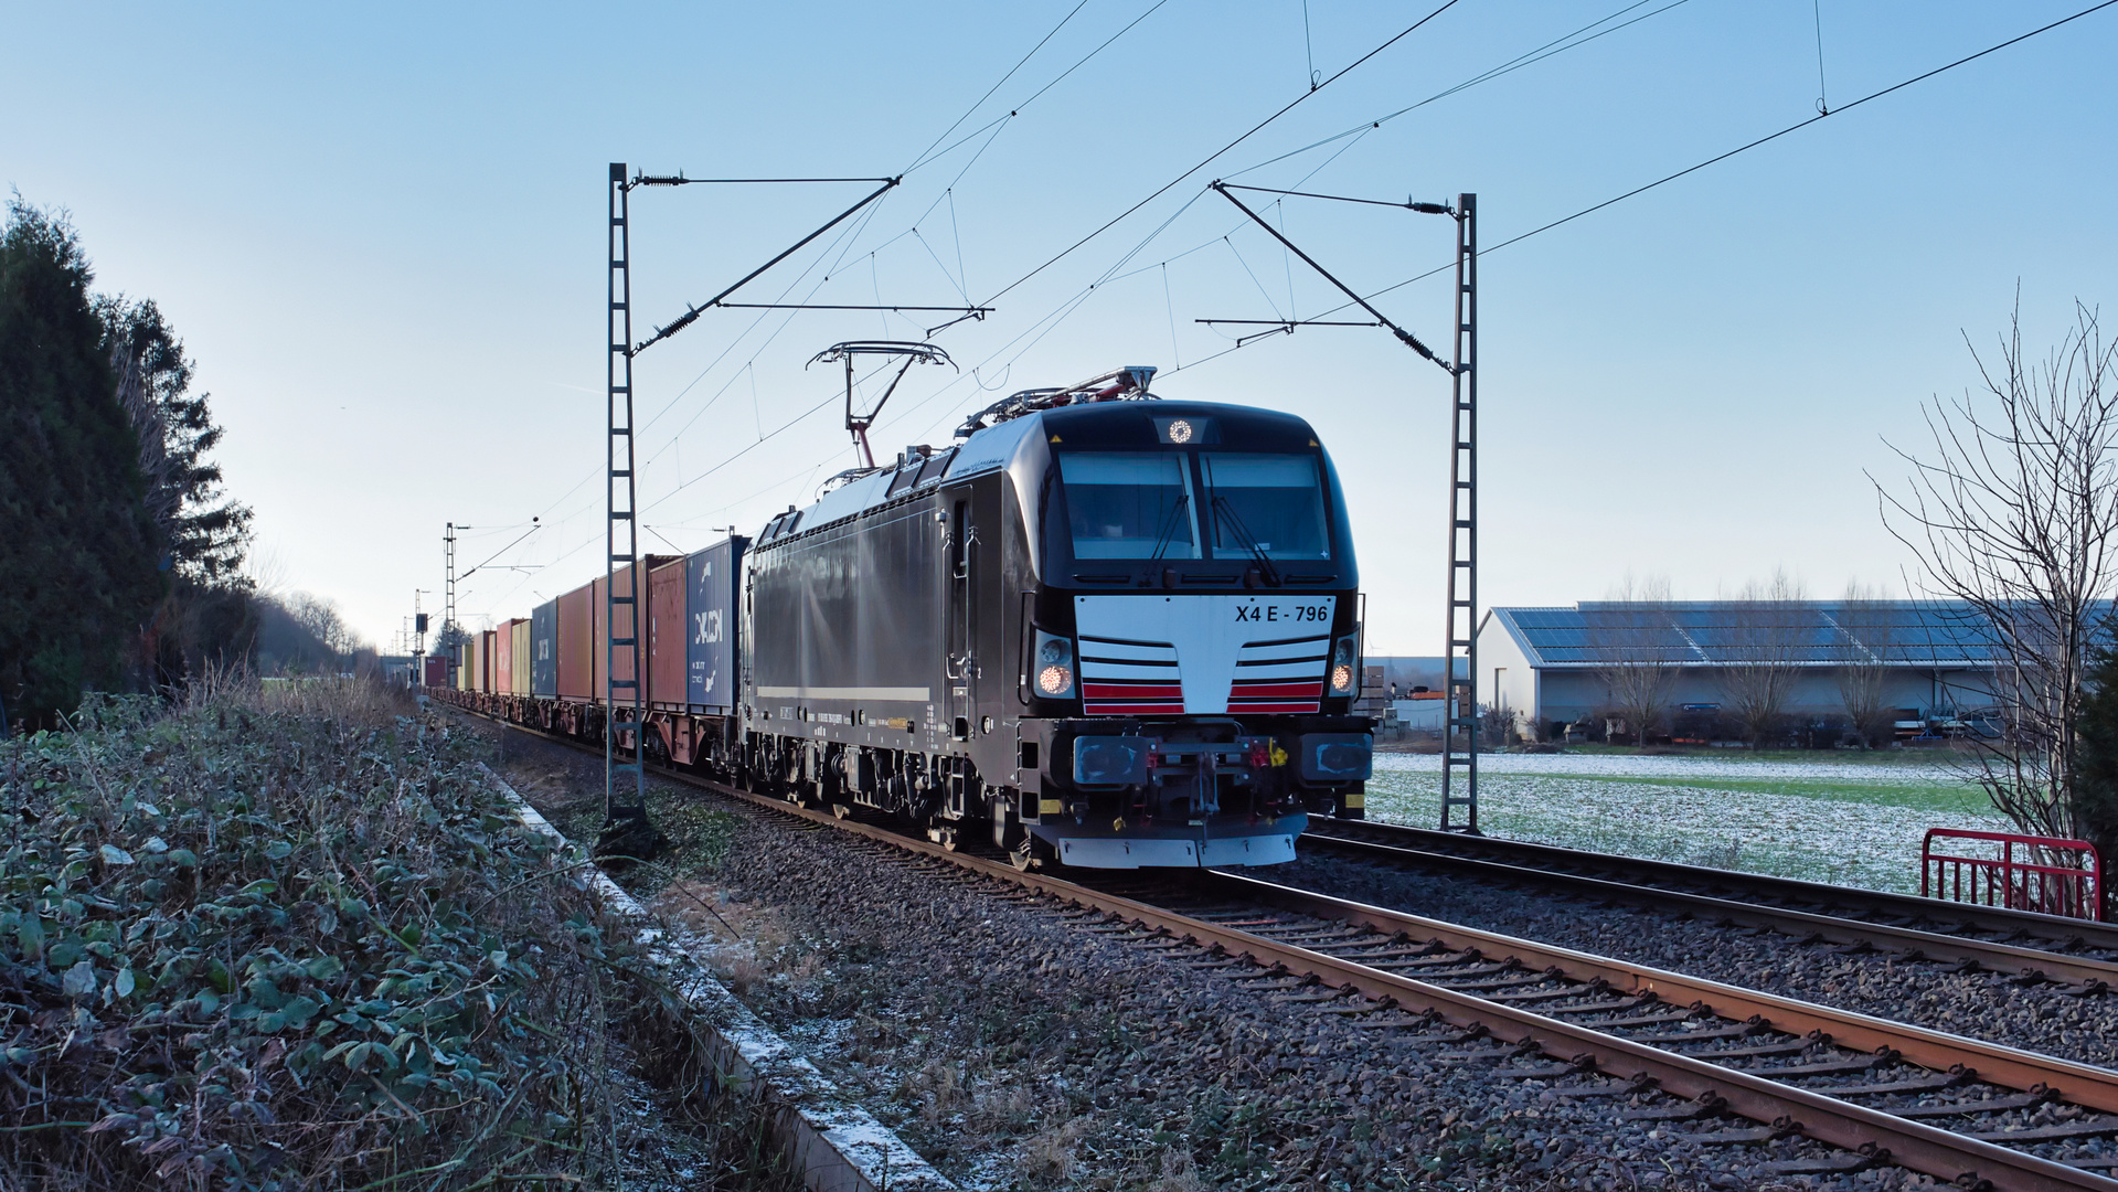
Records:
[[[1059,478],[1076,559],[1330,557],[1313,455],[1061,451]]]

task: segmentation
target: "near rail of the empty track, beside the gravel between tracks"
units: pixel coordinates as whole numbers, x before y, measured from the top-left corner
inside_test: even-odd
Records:
[[[1315,819],[1311,819],[1311,824],[1315,824]],[[1324,834],[1317,834],[1315,830],[1305,832],[1303,843],[1324,845],[1324,849],[1328,851],[1366,855],[1406,866],[1447,868],[1491,881],[1542,883],[1591,898],[1610,898],[1616,902],[1661,906],[1667,910],[1680,910],[1707,919],[1726,919],[1741,923],[1745,927],[1775,927],[1792,934],[1815,936],[1834,944],[1866,944],[1887,953],[1927,959],[1927,961],[1955,961],[1963,965],[2018,974],[2025,978],[2069,980],[2074,985],[2080,985],[2084,991],[2097,987],[2118,989],[2118,961],[2105,961],[2095,957],[2074,957],[2067,953],[2054,953],[2046,949],[2025,949],[2018,944],[1980,940],[1976,936],[1949,936],[1944,932],[1900,927],[1896,923],[1870,923],[1866,919],[1817,915],[1813,910],[1773,906],[1771,902],[1737,902],[1733,898],[1688,893],[1682,889],[1663,889],[1658,885],[1612,881],[1580,872],[1548,870],[1538,866],[1523,866],[1523,864],[1483,860],[1483,857],[1466,857],[1457,853],[1438,853],[1432,849],[1415,849],[1406,845],[1383,845],[1377,841],[1332,836],[1328,830]],[[1603,853],[1591,853],[1591,855],[1603,857]],[[1616,860],[1622,857],[1614,857],[1614,862]]]

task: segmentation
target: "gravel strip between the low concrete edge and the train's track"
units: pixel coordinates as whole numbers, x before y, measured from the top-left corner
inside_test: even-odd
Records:
[[[523,737],[506,752],[559,821],[593,815],[593,758]],[[1192,968],[932,862],[654,788],[676,855],[623,881],[716,934],[731,989],[966,1186],[1932,1186],[1896,1169],[1754,1177],[1813,1143],[1701,1148],[1620,1120],[1635,1099],[1495,1080],[1464,1048],[1248,991],[1231,980],[1245,965]]]

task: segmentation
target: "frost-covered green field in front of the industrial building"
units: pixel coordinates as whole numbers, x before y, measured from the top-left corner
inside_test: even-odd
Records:
[[[1622,754],[1480,754],[1493,836],[1919,893],[1927,828],[2006,832],[1942,762],[1800,762]],[[1440,758],[1379,754],[1368,817],[1425,828]]]

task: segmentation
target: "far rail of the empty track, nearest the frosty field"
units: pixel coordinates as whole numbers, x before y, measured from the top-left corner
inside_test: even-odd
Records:
[[[1915,921],[1917,919],[1955,921],[1970,932],[1999,932],[2004,936],[2029,934],[2057,942],[2078,940],[2088,946],[2110,949],[2118,953],[2118,923],[2097,923],[2093,919],[2067,919],[2063,915],[2040,915],[2035,910],[2012,910],[2006,906],[1985,906],[1980,902],[1949,902],[1942,898],[1889,893],[1883,889],[1824,885],[1819,881],[1802,881],[1792,877],[1771,877],[1771,874],[1754,874],[1741,870],[1711,870],[1705,866],[1688,866],[1680,862],[1656,862],[1648,857],[1593,853],[1586,849],[1533,845],[1529,841],[1506,841],[1500,836],[1464,836],[1457,832],[1432,832],[1425,828],[1408,828],[1404,824],[1387,824],[1381,819],[1330,819],[1322,815],[1311,815],[1309,830],[1303,832],[1303,841],[1311,845],[1328,841],[1330,845],[1326,847],[1334,847],[1341,843],[1368,843],[1368,845],[1387,845],[1421,853],[1442,853],[1442,855],[1474,853],[1478,855],[1478,860],[1504,860],[1506,864],[1523,864],[1538,868],[1540,872],[1550,872],[1550,870],[1563,872],[1563,866],[1603,868],[1612,872],[1633,874],[1646,881],[1667,881],[1692,889],[1737,889],[1743,893],[1779,898],[1788,902],[1860,906],[1874,915],[1898,915]]]

